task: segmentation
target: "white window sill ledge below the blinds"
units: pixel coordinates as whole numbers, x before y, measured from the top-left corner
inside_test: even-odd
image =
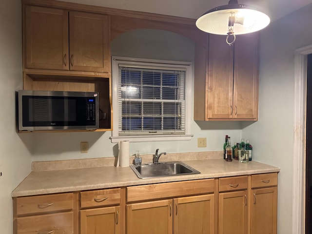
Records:
[[[119,141],[129,140],[130,142],[148,142],[148,141],[174,141],[174,140],[191,140],[193,134],[187,135],[161,135],[161,136],[122,136],[122,137],[110,137],[112,143],[118,143]]]

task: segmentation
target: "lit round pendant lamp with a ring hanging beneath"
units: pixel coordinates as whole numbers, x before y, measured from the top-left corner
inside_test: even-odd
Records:
[[[266,14],[251,6],[238,4],[237,0],[230,0],[229,4],[217,6],[199,17],[196,27],[206,33],[228,35],[226,42],[232,45],[235,35],[259,31],[269,23],[270,18]]]

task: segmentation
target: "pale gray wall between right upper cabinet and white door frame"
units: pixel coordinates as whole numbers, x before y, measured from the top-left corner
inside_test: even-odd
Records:
[[[294,51],[312,44],[312,4],[274,21],[261,32],[259,121],[243,129],[254,159],[281,168],[278,176],[278,234],[292,230]]]

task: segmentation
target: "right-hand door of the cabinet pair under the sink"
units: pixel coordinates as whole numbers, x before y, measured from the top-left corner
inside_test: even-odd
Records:
[[[214,194],[174,199],[174,234],[213,234],[214,211]]]

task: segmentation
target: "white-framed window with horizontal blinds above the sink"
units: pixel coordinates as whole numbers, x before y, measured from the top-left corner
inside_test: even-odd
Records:
[[[190,62],[113,57],[112,65],[112,142],[192,137]]]

